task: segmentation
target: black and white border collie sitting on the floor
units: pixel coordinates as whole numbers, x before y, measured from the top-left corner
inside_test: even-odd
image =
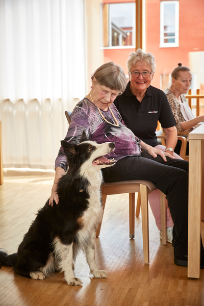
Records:
[[[90,273],[106,278],[95,262],[95,231],[103,217],[100,196],[100,169],[115,161],[103,157],[115,148],[114,142],[97,144],[83,132],[80,143],[61,141],[69,165],[58,183],[58,205],[47,202],[40,209],[17,253],[8,255],[0,249],[0,266],[10,266],[16,274],[44,279],[55,271],[64,271],[68,285],[82,284],[73,273],[78,251],[86,254]]]

